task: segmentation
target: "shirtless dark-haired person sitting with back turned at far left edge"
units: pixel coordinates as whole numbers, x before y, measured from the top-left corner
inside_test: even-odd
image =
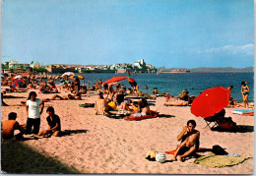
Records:
[[[4,140],[20,140],[23,139],[23,135],[25,133],[26,125],[20,125],[18,121],[16,121],[17,113],[11,112],[8,115],[8,120],[2,122],[2,138]],[[15,130],[19,130],[20,133],[14,135]]]

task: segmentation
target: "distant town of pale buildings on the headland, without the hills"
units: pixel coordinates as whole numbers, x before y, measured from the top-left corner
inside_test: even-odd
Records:
[[[65,72],[74,73],[157,73],[158,69],[151,65],[146,64],[144,59],[140,59],[134,64],[117,63],[113,65],[66,65],[66,64],[50,64],[40,65],[38,62],[28,64],[19,63],[17,60],[11,60],[1,64],[2,73],[8,72],[47,72],[50,74],[62,74]]]

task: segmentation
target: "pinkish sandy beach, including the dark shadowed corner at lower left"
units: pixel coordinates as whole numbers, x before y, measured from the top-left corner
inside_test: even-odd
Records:
[[[17,112],[20,124],[27,121],[26,107],[20,106],[26,101],[28,92],[6,93],[4,101],[9,106],[1,107],[2,120],[8,119],[10,112]],[[51,97],[35,89],[37,98]],[[67,94],[62,90],[59,94]],[[61,119],[64,135],[56,138],[42,138],[21,142],[2,143],[2,171],[7,173],[104,173],[104,174],[252,174],[254,148],[254,116],[233,114],[233,109],[225,108],[225,117],[239,126],[243,132],[211,131],[201,117],[190,112],[190,106],[164,106],[164,97],[158,97],[151,109],[158,110],[160,116],[141,121],[112,119],[95,115],[94,108],[82,108],[79,104],[95,102],[96,92],[82,96],[83,100],[51,100],[45,103],[41,114],[40,130],[47,128],[46,108],[52,105]],[[210,168],[195,164],[195,158],[184,162],[171,161],[166,154],[166,161],[149,161],[145,154],[151,148],[160,152],[174,149],[178,144],[176,137],[186,125],[194,119],[196,129],[200,131],[200,147],[224,147],[228,153],[248,156],[238,165],[224,168]],[[200,153],[202,155],[206,152]]]

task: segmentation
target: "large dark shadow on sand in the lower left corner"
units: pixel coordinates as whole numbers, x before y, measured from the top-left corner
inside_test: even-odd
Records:
[[[79,173],[74,167],[69,167],[58,160],[42,155],[22,142],[2,143],[1,170],[12,174]]]

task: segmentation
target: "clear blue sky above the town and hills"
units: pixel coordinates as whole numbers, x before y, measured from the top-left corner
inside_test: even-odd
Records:
[[[3,0],[1,62],[254,65],[253,0]]]

